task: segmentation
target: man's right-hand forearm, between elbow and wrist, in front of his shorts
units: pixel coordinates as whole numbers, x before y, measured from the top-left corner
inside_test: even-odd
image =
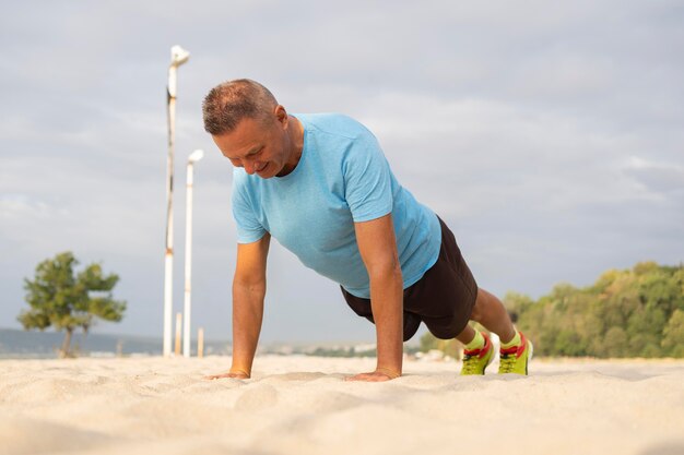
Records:
[[[370,276],[370,306],[377,332],[377,370],[401,375],[403,359],[403,286],[401,270]]]

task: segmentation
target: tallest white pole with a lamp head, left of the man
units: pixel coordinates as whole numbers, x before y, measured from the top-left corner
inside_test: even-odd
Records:
[[[172,47],[172,62],[168,67],[166,107],[168,118],[168,154],[166,158],[166,250],[164,258],[164,357],[170,357],[172,312],[174,288],[174,137],[176,129],[176,70],[188,61],[190,53],[180,46]]]

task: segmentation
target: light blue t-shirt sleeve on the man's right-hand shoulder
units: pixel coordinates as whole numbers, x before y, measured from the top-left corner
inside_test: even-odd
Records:
[[[342,170],[345,199],[355,223],[376,219],[392,212],[389,164],[370,132],[351,143]]]

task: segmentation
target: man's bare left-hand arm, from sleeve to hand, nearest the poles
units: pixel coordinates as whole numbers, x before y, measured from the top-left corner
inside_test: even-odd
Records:
[[[251,363],[263,320],[266,263],[270,242],[271,236],[267,232],[253,243],[237,246],[237,265],[233,278],[233,366],[227,373],[208,379],[247,379],[251,375]]]

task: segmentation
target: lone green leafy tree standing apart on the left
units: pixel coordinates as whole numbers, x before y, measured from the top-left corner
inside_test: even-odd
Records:
[[[87,333],[96,318],[119,322],[126,311],[126,302],[111,296],[118,275],[105,275],[96,263],[74,274],[78,264],[69,251],[39,263],[34,279],[24,279],[25,299],[31,309],[16,318],[27,331],[50,326],[66,331],[60,357],[72,356],[71,336],[75,330],[80,327]]]

